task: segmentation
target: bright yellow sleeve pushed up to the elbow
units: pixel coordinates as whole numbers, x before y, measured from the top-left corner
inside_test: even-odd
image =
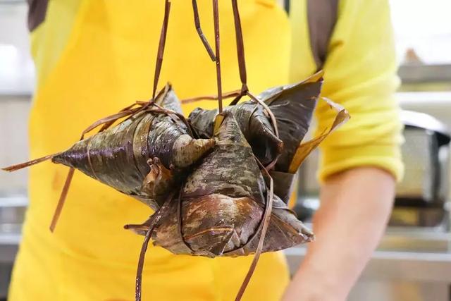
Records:
[[[388,0],[342,0],[324,65],[323,96],[351,119],[321,145],[319,178],[356,166],[377,166],[402,178],[402,124]],[[333,121],[325,102],[316,110],[321,131]]]

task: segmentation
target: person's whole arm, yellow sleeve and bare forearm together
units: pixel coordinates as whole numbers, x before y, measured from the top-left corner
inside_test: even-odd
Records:
[[[321,145],[316,240],[284,301],[345,300],[381,238],[403,171],[396,70],[388,0],[340,0],[323,96],[351,118]],[[319,102],[317,133],[330,112]]]

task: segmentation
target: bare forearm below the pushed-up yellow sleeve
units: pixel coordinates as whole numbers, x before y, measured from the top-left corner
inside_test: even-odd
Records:
[[[383,234],[394,190],[395,178],[379,168],[330,176],[314,217],[316,240],[283,300],[345,300]]]

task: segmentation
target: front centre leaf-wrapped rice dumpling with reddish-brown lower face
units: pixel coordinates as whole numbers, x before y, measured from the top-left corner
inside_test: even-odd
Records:
[[[168,215],[156,226],[152,236],[155,245],[175,254],[208,257],[239,256],[257,250],[257,228],[268,192],[264,178],[230,113],[226,113],[215,139],[214,150],[188,176],[180,202],[173,202]],[[135,225],[132,230],[143,235],[147,224]],[[264,252],[312,239],[311,231],[275,197]]]

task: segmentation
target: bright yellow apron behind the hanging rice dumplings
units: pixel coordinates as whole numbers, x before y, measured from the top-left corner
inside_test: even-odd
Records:
[[[191,1],[171,2],[159,86],[170,80],[180,98],[216,94],[214,63],[194,29]],[[199,1],[199,11],[203,30],[214,44],[211,1]],[[260,92],[285,84],[290,49],[285,13],[270,0],[240,1],[240,11],[250,89]],[[235,90],[240,80],[230,1],[220,1],[220,14],[223,90]],[[66,47],[35,94],[31,157],[66,149],[93,121],[135,100],[149,99],[162,18],[163,1],[82,1]],[[183,109],[189,113],[195,106],[216,103]],[[30,208],[8,300],[134,300],[143,238],[122,227],[144,221],[150,209],[75,173],[51,234],[49,221],[67,171],[51,163],[31,168]],[[233,300],[251,260],[175,256],[149,247],[143,300]],[[287,283],[283,254],[264,254],[244,300],[278,300]]]

